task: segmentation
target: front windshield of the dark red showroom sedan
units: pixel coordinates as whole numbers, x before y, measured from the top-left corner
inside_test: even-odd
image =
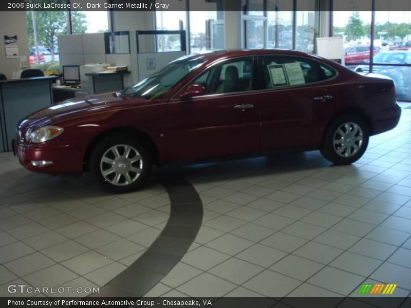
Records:
[[[171,62],[158,73],[126,89],[122,94],[147,100],[160,99],[186,75],[203,63],[204,60],[202,59],[187,56],[181,57]]]

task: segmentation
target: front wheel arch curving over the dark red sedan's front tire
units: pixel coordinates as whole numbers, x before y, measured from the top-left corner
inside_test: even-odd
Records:
[[[109,130],[106,130],[106,131],[103,131],[103,132],[99,133],[97,136],[95,136],[91,140],[91,142],[87,146],[86,151],[84,153],[83,171],[88,171],[89,164],[90,164],[91,153],[95,149],[97,144],[99,144],[99,142],[101,140],[103,140],[104,138],[106,138],[107,136],[110,136],[110,135],[113,135],[113,134],[120,134],[120,133],[132,134],[132,136],[135,136],[136,139],[144,142],[152,150],[154,164],[159,163],[158,147],[157,147],[157,144],[155,143],[155,141],[153,140],[153,138],[150,135],[148,135],[146,132],[144,132],[140,129],[136,129],[136,128],[133,128],[133,127],[115,127],[115,128],[111,128]]]

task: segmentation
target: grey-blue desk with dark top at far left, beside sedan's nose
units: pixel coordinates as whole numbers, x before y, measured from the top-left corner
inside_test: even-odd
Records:
[[[11,151],[18,121],[53,103],[51,83],[57,76],[0,81],[0,152]]]

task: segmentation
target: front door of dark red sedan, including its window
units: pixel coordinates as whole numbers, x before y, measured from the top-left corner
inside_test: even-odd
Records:
[[[259,119],[253,57],[227,60],[208,68],[190,84],[205,92],[169,102],[164,133],[171,160],[195,160],[257,152]]]

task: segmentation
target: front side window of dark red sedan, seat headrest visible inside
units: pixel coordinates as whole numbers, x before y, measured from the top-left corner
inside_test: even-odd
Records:
[[[253,60],[251,57],[215,65],[200,74],[194,84],[206,88],[206,94],[245,92],[252,89]]]

